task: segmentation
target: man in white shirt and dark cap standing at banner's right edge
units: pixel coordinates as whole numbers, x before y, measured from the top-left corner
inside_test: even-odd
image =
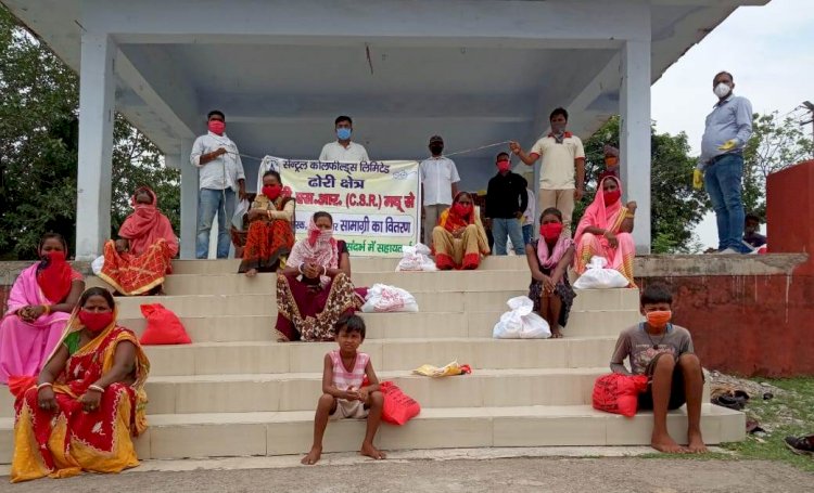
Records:
[[[453,197],[458,195],[460,177],[455,163],[441,155],[444,152],[444,139],[441,135],[430,138],[430,154],[419,165],[421,176],[421,203],[424,213],[424,245],[432,244],[432,230],[438,224],[441,212],[453,205]]]

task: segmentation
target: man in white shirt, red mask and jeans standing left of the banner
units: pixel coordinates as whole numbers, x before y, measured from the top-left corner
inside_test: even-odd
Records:
[[[218,215],[217,258],[229,257],[229,221],[234,213],[234,194],[246,194],[243,163],[238,146],[226,137],[226,117],[217,109],[206,115],[208,132],[195,139],[189,160],[199,168],[198,238],[195,257],[209,254],[209,232]]]

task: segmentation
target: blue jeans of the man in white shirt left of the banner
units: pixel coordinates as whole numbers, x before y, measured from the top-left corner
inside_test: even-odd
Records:
[[[217,257],[229,257],[229,225],[234,213],[234,191],[201,189],[198,194],[198,242],[195,257],[205,259],[209,256],[209,231],[215,213],[218,215],[218,249]]]

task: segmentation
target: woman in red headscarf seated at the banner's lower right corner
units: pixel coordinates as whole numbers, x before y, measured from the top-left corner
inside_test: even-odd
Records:
[[[488,238],[474,210],[472,195],[459,192],[453,206],[441,213],[432,230],[435,265],[442,271],[478,269],[481,255],[489,254]]]

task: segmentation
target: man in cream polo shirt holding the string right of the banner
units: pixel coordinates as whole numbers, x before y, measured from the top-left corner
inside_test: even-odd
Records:
[[[538,140],[525,154],[517,142],[509,147],[529,166],[543,157],[539,167],[539,210],[556,207],[562,212],[562,226],[571,233],[574,203],[585,194],[585,150],[582,141],[565,131],[568,112],[556,108],[548,117],[551,133]]]

